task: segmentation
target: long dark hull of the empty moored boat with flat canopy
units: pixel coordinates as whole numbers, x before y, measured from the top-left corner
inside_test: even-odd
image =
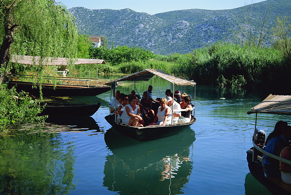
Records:
[[[107,86],[86,87],[77,85],[54,85],[43,83],[42,96],[43,97],[67,97],[67,96],[96,96],[111,90]],[[17,92],[25,91],[35,97],[40,96],[39,87],[33,88],[33,83],[22,81],[10,81],[8,87],[15,86]]]

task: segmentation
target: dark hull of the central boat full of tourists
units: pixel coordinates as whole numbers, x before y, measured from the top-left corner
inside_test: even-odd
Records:
[[[120,134],[138,140],[140,142],[157,140],[164,137],[169,137],[182,132],[185,128],[191,126],[196,122],[194,118],[189,123],[167,125],[167,126],[146,126],[146,127],[133,127],[124,123],[118,123],[111,119],[113,115],[105,116],[105,120]]]

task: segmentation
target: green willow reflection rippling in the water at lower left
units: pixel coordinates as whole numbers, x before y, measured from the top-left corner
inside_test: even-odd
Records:
[[[55,133],[18,132],[0,139],[1,194],[69,194],[74,143]]]

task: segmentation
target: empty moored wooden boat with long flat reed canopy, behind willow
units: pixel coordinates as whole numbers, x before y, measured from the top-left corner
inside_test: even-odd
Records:
[[[65,66],[65,65],[80,65],[80,64],[106,64],[104,60],[99,59],[72,59],[68,58],[44,58],[40,59],[38,56],[22,56],[22,55],[11,55],[11,62],[25,64],[25,65],[45,65],[45,66]],[[98,75],[98,72],[97,72]],[[8,87],[12,88],[15,86],[18,92],[25,91],[30,95],[35,97],[40,96],[39,86],[42,86],[42,96],[49,97],[65,97],[65,96],[95,96],[101,93],[105,93],[109,91],[111,88],[105,85],[97,86],[98,78],[90,78],[90,70],[89,70],[89,78],[88,78],[88,86],[85,85],[54,85],[50,83],[36,83],[36,88],[34,87],[34,83],[32,82],[23,82],[23,81],[13,81],[11,78],[35,78],[35,76],[30,75],[16,75],[16,74],[6,74],[8,77]],[[47,79],[56,79],[56,80],[74,80],[74,81],[87,81],[84,80],[86,78],[74,78],[74,77],[56,77],[47,76]],[[97,77],[97,76],[96,76]],[[76,80],[77,79],[77,80]],[[81,80],[80,80],[81,79]],[[95,79],[96,86],[89,86],[89,80]]]

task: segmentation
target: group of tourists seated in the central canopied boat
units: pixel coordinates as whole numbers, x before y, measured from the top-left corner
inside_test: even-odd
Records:
[[[182,124],[191,121],[193,107],[191,97],[186,93],[181,94],[176,90],[173,94],[167,89],[166,97],[152,98],[152,86],[143,92],[141,101],[140,96],[131,91],[129,95],[116,91],[115,98],[110,102],[110,114],[117,115],[117,121],[130,126],[152,126]],[[174,97],[174,100],[173,100]]]

